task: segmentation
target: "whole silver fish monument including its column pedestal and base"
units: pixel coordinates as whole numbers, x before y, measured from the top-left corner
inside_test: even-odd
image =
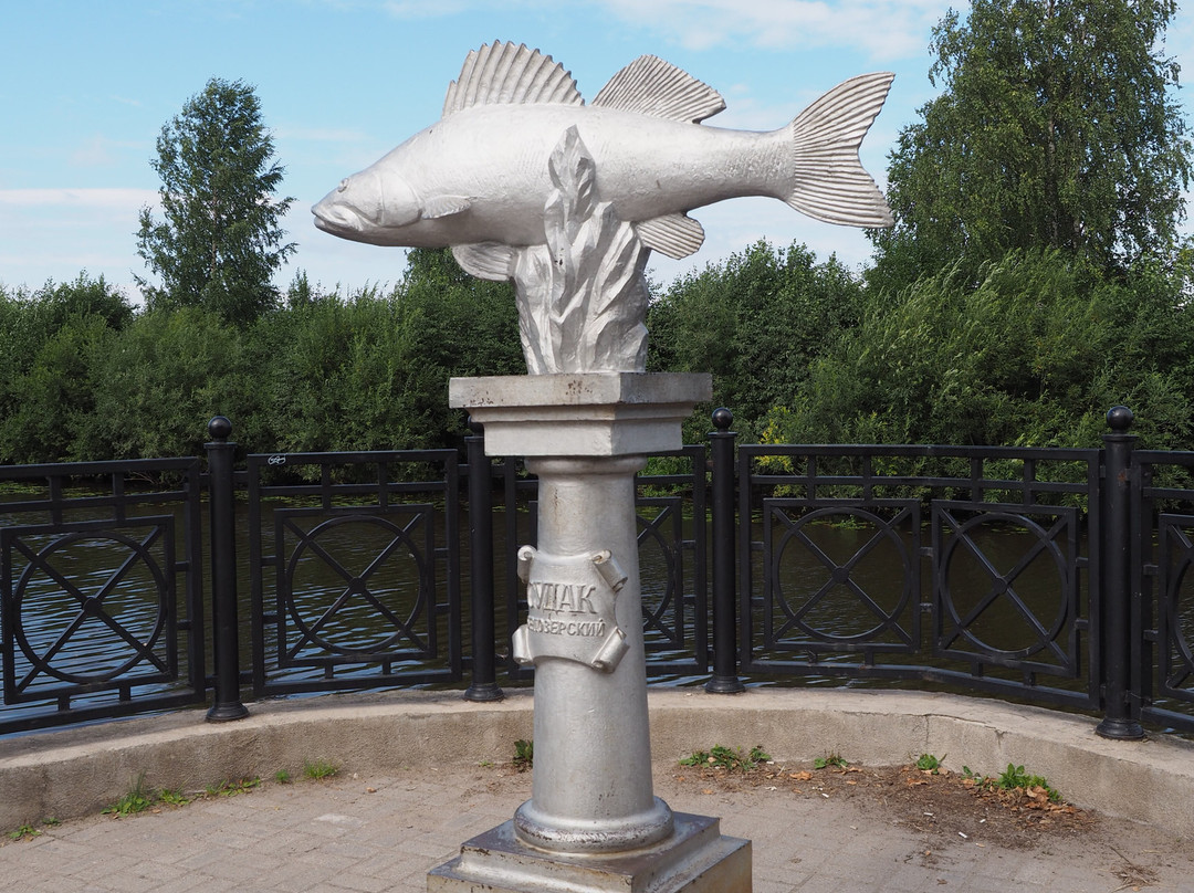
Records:
[[[704,239],[688,211],[770,196],[818,220],[884,227],[857,149],[892,75],[854,78],[787,127],[703,127],[721,97],[644,56],[585,105],[562,66],[494,43],[468,55],[443,118],[328,193],[334,235],[451,247],[511,279],[529,375],[454,378],[449,401],[486,451],[538,475],[538,543],[518,553],[528,615],[515,658],[535,667],[531,799],[427,875],[427,891],[749,893],[750,842],[654,796],[634,475],[679,448],[708,400],[700,374],[646,374],[651,251]]]

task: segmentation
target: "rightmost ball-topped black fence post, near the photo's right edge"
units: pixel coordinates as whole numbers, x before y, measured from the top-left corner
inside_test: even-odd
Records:
[[[1103,435],[1103,567],[1100,601],[1102,635],[1103,720],[1095,729],[1103,738],[1144,738],[1139,708],[1128,701],[1132,654],[1132,448],[1127,430],[1134,415],[1126,406],[1107,413],[1112,433]]]

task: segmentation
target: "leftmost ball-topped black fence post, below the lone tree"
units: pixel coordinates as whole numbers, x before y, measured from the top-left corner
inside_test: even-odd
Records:
[[[208,511],[211,512],[211,652],[215,659],[215,698],[209,722],[248,715],[240,701],[240,647],[236,616],[236,515],[233,492],[232,423],[216,415],[208,423]]]

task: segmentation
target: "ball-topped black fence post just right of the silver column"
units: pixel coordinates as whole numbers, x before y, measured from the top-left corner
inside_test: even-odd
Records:
[[[734,578],[734,438],[730,430],[734,414],[721,407],[713,412],[709,456],[713,463],[713,677],[704,690],[716,695],[745,691],[738,678],[737,593]]]

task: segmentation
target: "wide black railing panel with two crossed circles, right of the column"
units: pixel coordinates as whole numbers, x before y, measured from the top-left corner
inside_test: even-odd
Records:
[[[1097,709],[1098,450],[743,445],[737,479],[743,672]]]

